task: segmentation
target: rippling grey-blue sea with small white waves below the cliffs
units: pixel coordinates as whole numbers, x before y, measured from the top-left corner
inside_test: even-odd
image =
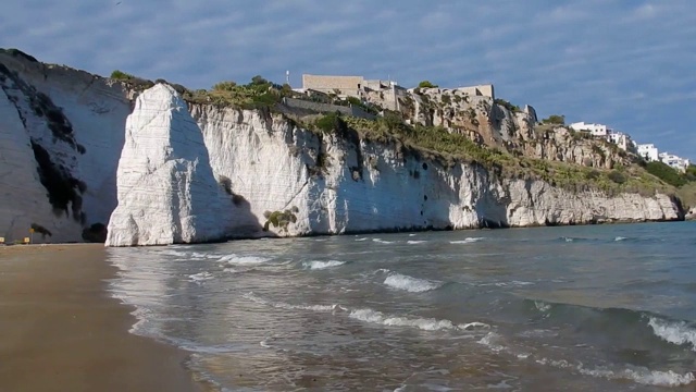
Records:
[[[696,390],[696,222],[108,254],[132,332],[222,391]]]

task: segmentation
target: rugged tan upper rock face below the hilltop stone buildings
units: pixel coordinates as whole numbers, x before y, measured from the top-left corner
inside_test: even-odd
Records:
[[[520,109],[490,97],[440,88],[411,89],[400,102],[400,111],[412,123],[443,126],[508,152],[600,169],[631,164],[616,145],[560,125],[536,126],[536,111],[530,106]]]

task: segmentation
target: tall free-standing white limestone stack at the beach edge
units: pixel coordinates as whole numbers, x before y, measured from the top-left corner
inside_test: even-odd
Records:
[[[232,200],[213,176],[198,125],[169,85],[137,98],[116,186],[108,246],[217,241],[228,231]]]

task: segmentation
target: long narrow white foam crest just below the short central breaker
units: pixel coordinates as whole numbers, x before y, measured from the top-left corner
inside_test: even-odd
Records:
[[[351,310],[348,314],[348,317],[369,323],[376,323],[387,327],[411,327],[418,328],[423,331],[477,331],[481,329],[490,328],[490,326],[488,326],[487,323],[478,321],[455,324],[450,320],[391,316],[373,309]]]

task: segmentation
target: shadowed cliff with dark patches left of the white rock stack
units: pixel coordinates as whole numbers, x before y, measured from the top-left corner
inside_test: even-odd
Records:
[[[0,146],[7,162],[0,236],[22,238],[34,223],[51,233],[48,241],[82,241],[83,226],[105,223],[115,207],[127,90],[7,53],[0,53],[0,133],[12,139]]]

